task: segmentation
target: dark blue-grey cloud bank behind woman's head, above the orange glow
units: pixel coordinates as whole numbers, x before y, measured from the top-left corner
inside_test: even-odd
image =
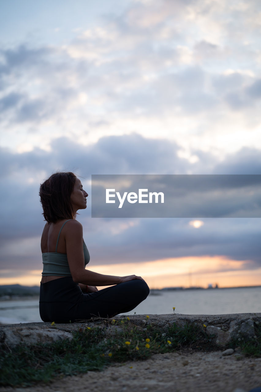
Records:
[[[219,162],[211,154],[193,151],[198,162],[179,158],[179,146],[168,140],[145,139],[137,134],[108,136],[97,143],[83,146],[68,138],[53,141],[50,151],[1,154],[2,171],[2,245],[1,266],[4,269],[39,269],[40,234],[44,221],[38,196],[39,184],[56,170],[76,171],[90,190],[90,174],[195,174],[209,167],[209,174],[258,171],[258,150],[242,150]],[[258,158],[258,159],[257,159]],[[259,163],[258,163],[259,162]],[[252,169],[251,169],[252,168]],[[260,171],[259,171],[260,173]],[[257,174],[259,174],[257,173]],[[259,219],[204,219],[195,230],[190,219],[91,219],[88,208],[81,212],[84,238],[90,250],[92,265],[130,261],[152,261],[185,256],[227,256],[245,260],[246,266],[259,265]],[[18,246],[19,245],[19,246]],[[18,257],[14,252],[21,249]],[[9,250],[9,251],[8,251]],[[250,261],[251,263],[250,263]],[[248,268],[247,267],[247,268]]]

